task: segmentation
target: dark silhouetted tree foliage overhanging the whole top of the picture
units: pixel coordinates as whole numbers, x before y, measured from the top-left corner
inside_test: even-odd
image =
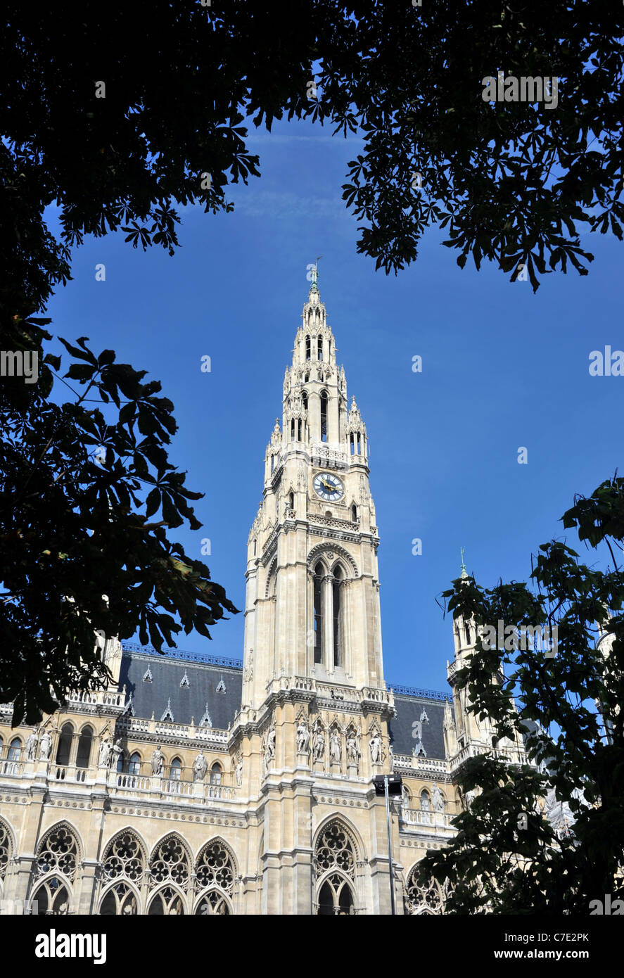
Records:
[[[568,262],[587,273],[579,230],[622,238],[624,11],[611,0],[5,10],[0,298],[14,312],[67,281],[85,234],[172,253],[175,204],[232,209],[228,183],[259,172],[247,118],[363,133],[343,198],[363,222],[358,250],[386,272],[416,259],[432,224],[461,266],[488,258],[513,276],[523,263],[534,289]],[[557,105],[484,102],[499,70],[557,78]],[[53,202],[60,241],[43,219]]]

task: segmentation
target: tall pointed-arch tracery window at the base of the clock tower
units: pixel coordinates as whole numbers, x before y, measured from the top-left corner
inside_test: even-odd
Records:
[[[355,852],[340,822],[331,822],[319,835],[314,858],[317,912],[344,916],[355,911],[352,883]]]

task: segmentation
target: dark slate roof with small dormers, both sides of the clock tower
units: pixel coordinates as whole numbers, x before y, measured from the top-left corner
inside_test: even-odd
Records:
[[[227,730],[241,707],[240,660],[179,649],[159,655],[154,650],[138,648],[141,646],[124,646],[119,670],[119,689],[125,685],[126,692],[132,693],[135,717],[150,720],[154,714],[160,720],[168,708],[174,723],[190,724],[193,717],[200,724],[207,704],[212,727]],[[144,680],[146,673],[151,675],[151,681]],[[391,684],[386,685],[391,688]],[[225,686],[225,692],[217,691],[220,686]],[[443,760],[445,693],[414,689],[416,694],[412,695],[410,687],[393,689],[397,715],[390,723],[390,737],[394,753],[412,754],[421,733],[424,756]]]

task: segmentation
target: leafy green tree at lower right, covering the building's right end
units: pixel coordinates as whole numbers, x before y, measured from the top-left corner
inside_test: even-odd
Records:
[[[615,558],[624,548],[624,479],[576,499],[562,521],[592,551],[604,546],[605,570],[598,555],[588,565],[551,541],[535,557],[531,587],[484,589],[458,578],[445,593],[454,617],[476,626],[501,620],[520,637],[523,626],[557,628],[553,655],[531,642],[522,649],[521,639],[519,648],[490,647],[498,643],[481,636],[457,673],[471,711],[489,718],[502,745],[524,735],[533,764],[509,764],[492,750],[459,768],[473,800],[455,818],[449,848],[420,867],[423,882],[449,880],[451,913],[587,915],[591,901],[624,896],[624,570]],[[567,834],[542,814],[549,792],[569,806]]]

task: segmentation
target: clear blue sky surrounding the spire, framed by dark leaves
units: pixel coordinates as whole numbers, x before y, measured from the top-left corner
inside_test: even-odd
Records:
[[[198,557],[210,539],[212,577],[243,609],[264,450],[282,416],[306,266],[323,255],[321,298],[369,434],[385,678],[448,689],[451,622],[435,598],[459,575],[460,547],[484,586],[526,580],[531,552],[562,538],[574,493],[620,465],[624,378],[590,377],[588,365],[592,350],[624,348],[621,245],[584,236],[596,255],[589,276],[547,276],[534,295],[494,266],[460,270],[434,229],[418,262],[386,277],[356,253],[357,221],[340,199],[358,139],[291,122],[254,131],[248,145],[261,178],[230,189],[233,214],[183,210],[173,258],[122,234],[77,249],[51,329],[87,335],[162,382],[179,424],[170,457],[205,493],[203,528],[180,539]],[[417,354],[422,374],[412,372]],[[412,554],[417,537],[422,556]],[[211,643],[191,635],[179,646],[239,658],[243,628],[240,614],[215,626]]]

